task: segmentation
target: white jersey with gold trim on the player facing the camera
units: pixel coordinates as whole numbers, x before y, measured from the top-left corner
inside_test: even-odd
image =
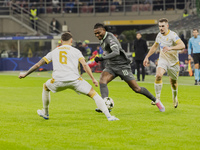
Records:
[[[179,62],[177,50],[171,50],[165,53],[162,51],[163,47],[171,47],[176,45],[178,40],[180,40],[180,38],[174,31],[169,30],[167,35],[162,35],[160,32],[158,33],[156,37],[156,43],[158,43],[160,46],[160,61],[167,61],[170,66],[173,66]]]

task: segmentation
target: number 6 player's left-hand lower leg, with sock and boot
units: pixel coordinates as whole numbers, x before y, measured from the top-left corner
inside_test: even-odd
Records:
[[[47,88],[45,83],[43,84],[42,102],[43,102],[43,109],[37,110],[37,113],[44,119],[49,119],[50,90]]]

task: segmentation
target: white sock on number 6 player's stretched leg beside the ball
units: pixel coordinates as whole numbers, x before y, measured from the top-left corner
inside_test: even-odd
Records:
[[[108,111],[108,108],[106,107],[105,102],[103,101],[102,97],[99,96],[99,94],[96,93],[96,95],[93,97],[97,107],[106,115],[106,117],[111,117],[111,114]]]

